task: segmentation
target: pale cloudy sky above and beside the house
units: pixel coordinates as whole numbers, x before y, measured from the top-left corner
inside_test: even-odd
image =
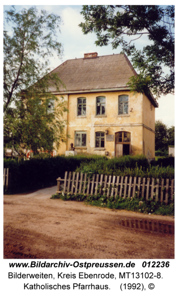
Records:
[[[39,2],[37,1],[37,3]],[[31,6],[15,5],[15,8],[19,11],[22,8],[28,9]],[[80,14],[82,5],[36,5],[36,7],[40,10],[46,9],[50,13],[53,12],[60,15],[63,22],[60,26],[60,33],[58,32],[58,40],[63,45],[63,57],[59,59],[57,56],[54,56],[50,59],[52,69],[58,67],[65,60],[74,59],[75,57],[82,58],[84,53],[88,52],[97,51],[99,56],[120,53],[121,48],[112,49],[111,45],[107,47],[96,47],[94,44],[96,41],[95,34],[83,35],[81,28],[78,27],[78,24],[84,21]],[[4,5],[4,10],[8,10],[9,8],[10,5]],[[148,42],[148,39],[144,36],[144,38],[139,39],[139,42],[135,44],[137,48],[141,49]],[[168,126],[175,125],[174,96],[162,96],[158,100],[158,103],[159,108],[156,108],[156,120],[160,119]]]

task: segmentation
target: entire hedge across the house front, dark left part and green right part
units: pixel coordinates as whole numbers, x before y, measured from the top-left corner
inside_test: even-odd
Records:
[[[164,164],[164,165],[163,165]],[[45,159],[4,160],[4,168],[11,173],[11,188],[13,193],[46,188],[57,184],[57,178],[64,178],[65,171],[77,171],[93,174],[140,176],[154,178],[174,178],[174,157],[158,158],[149,166],[143,155],[123,156],[108,159],[106,156],[77,155],[57,156]],[[160,165],[160,166],[157,166]],[[161,167],[168,166],[168,167]]]

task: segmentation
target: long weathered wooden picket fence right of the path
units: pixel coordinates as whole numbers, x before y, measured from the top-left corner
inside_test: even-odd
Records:
[[[141,177],[123,177],[123,176],[107,176],[94,174],[92,180],[87,174],[82,172],[65,171],[64,179],[57,179],[57,193],[68,194],[86,194],[89,195],[106,195],[107,197],[123,197],[123,198],[151,198],[155,201],[165,202],[168,199],[173,200],[174,197],[174,179],[150,179]],[[62,182],[62,183],[61,183]],[[62,187],[61,187],[62,185]],[[61,188],[61,189],[60,189]],[[62,189],[63,188],[63,189]]]

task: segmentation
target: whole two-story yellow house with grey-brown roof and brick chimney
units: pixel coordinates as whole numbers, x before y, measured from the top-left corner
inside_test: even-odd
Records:
[[[126,83],[136,72],[125,54],[86,53],[53,72],[66,86],[60,92],[50,91],[67,101],[66,133],[71,137],[57,154],[64,154],[73,143],[77,152],[155,157],[158,103],[151,94],[130,93]]]

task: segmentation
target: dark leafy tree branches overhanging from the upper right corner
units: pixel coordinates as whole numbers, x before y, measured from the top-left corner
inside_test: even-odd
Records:
[[[131,55],[133,67],[139,70],[137,77],[130,78],[131,90],[160,97],[174,94],[175,66],[175,7],[168,5],[83,5],[80,23],[84,34],[95,32],[97,46]],[[133,42],[147,36],[148,45],[136,49]],[[164,74],[166,68],[168,74]]]

